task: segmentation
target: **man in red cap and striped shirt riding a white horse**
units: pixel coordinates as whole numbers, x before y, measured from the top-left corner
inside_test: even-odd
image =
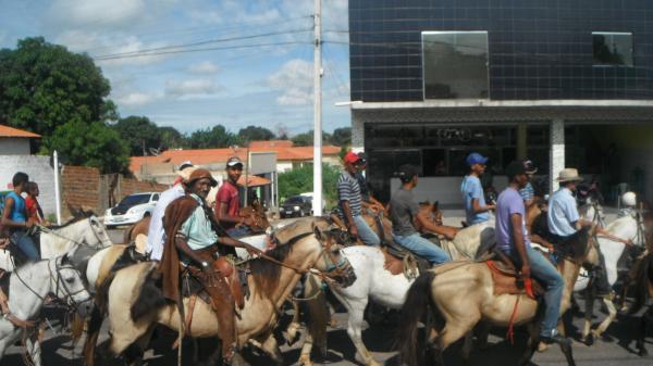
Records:
[[[349,234],[367,245],[380,245],[381,240],[362,218],[362,197],[356,175],[360,157],[348,152],[345,155],[345,172],[337,179],[337,200]]]

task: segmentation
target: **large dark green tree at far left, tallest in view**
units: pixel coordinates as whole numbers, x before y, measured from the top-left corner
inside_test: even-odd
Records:
[[[0,117],[44,136],[66,123],[107,122],[115,105],[111,88],[87,54],[70,52],[41,37],[19,41],[0,52]]]

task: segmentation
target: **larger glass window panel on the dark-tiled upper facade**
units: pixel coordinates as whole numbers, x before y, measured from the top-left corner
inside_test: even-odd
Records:
[[[486,99],[488,33],[422,33],[424,99]]]

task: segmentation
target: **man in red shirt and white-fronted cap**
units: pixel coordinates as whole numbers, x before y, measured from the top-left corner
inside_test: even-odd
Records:
[[[238,156],[226,161],[227,179],[222,182],[215,194],[215,218],[222,227],[234,238],[246,237],[254,223],[250,217],[239,216],[241,193],[238,179],[243,175],[243,162]]]

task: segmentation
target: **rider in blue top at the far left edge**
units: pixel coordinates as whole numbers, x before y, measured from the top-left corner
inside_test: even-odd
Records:
[[[9,236],[29,261],[38,261],[40,254],[34,240],[27,234],[35,222],[28,216],[25,199],[21,195],[25,191],[27,181],[29,181],[27,174],[23,172],[14,174],[12,179],[13,191],[7,194],[0,225],[2,231],[5,231],[3,235]]]

